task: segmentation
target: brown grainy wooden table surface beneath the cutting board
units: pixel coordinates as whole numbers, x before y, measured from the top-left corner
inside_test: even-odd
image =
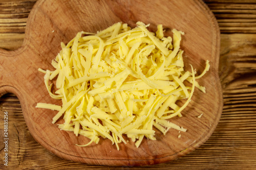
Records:
[[[0,0],[1,48],[15,50],[23,44],[27,17],[35,2]],[[146,167],[95,166],[63,160],[33,139],[18,99],[5,94],[0,98],[0,169],[256,169],[256,1],[204,2],[221,30],[219,75],[224,106],[218,127],[200,148],[173,162]],[[8,167],[3,161],[6,112]]]

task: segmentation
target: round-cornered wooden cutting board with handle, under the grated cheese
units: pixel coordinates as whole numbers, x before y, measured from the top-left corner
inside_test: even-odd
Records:
[[[62,120],[51,123],[56,111],[35,108],[38,102],[61,105],[61,101],[50,98],[44,74],[37,69],[53,69],[51,61],[61,49],[60,42],[69,42],[79,31],[96,32],[118,21],[131,27],[137,21],[151,23],[152,31],[163,24],[166,36],[172,36],[173,28],[185,32],[181,43],[185,68],[192,64],[200,74],[205,61],[210,61],[210,70],[199,80],[207,92],[196,89],[192,101],[182,112],[183,117],[172,119],[187,132],[169,130],[164,136],[156,131],[156,141],[144,139],[139,148],[130,141],[120,144],[120,151],[104,139],[89,147],[77,147],[75,144],[87,143],[89,139],[60,131],[57,124]],[[38,1],[29,15],[23,46],[16,51],[0,50],[0,96],[7,92],[17,95],[30,133],[59,157],[99,165],[150,165],[171,161],[198,148],[218,124],[223,105],[218,77],[219,34],[214,15],[202,1]]]

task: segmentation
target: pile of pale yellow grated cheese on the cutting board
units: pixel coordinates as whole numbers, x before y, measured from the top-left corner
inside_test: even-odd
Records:
[[[67,45],[61,43],[62,50],[52,61],[55,70],[38,69],[45,74],[50,96],[62,106],[36,107],[57,110],[52,123],[63,115],[60,130],[91,139],[79,146],[98,143],[101,136],[119,150],[126,135],[138,148],[144,137],[156,140],[154,129],[164,135],[170,128],[186,131],[170,118],[182,116],[195,87],[205,92],[196,80],[209,70],[209,61],[199,76],[191,65],[191,72],[185,71],[180,50],[184,33],[173,29],[173,38],[164,37],[162,25],[156,33],[148,26],[137,22],[132,29],[118,22],[96,34],[79,32]],[[49,81],[55,77],[58,90],[52,92]],[[183,99],[186,102],[179,107],[176,102]]]

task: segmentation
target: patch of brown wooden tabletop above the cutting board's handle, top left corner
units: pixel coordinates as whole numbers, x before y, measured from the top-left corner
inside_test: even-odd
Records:
[[[36,0],[1,1],[0,48],[16,50],[23,44],[29,12]]]

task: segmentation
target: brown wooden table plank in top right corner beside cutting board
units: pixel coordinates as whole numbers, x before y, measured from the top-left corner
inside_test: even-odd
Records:
[[[215,14],[221,33],[256,33],[255,1],[205,1],[205,3]]]

